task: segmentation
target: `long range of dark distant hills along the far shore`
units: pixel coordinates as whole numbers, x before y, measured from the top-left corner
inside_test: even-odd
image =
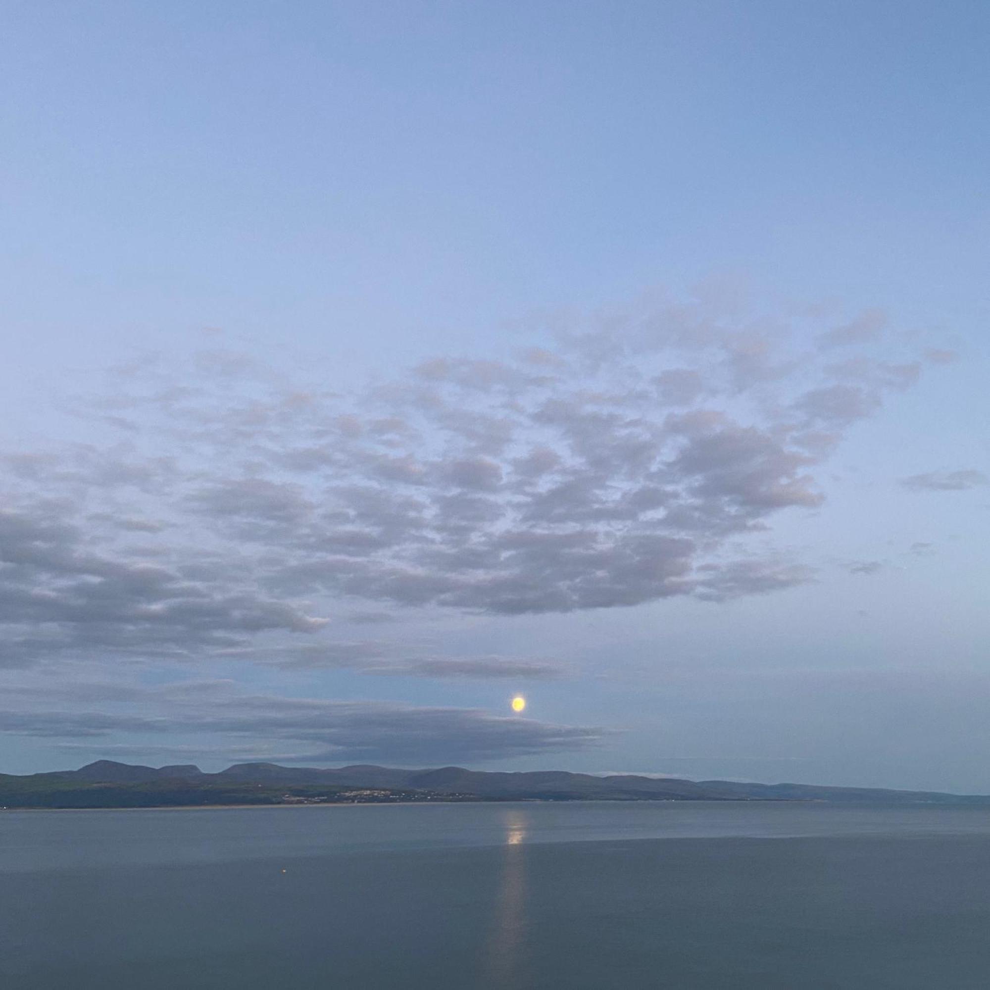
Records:
[[[0,774],[0,807],[131,808],[212,804],[396,801],[820,801],[841,804],[969,804],[990,796],[812,784],[751,784],[564,770],[491,772],[460,766],[330,769],[236,763],[219,773],[192,764],[141,766],[101,759],[78,770]]]

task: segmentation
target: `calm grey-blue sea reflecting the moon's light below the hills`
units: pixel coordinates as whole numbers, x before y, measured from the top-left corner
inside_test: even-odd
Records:
[[[0,986],[985,990],[990,811],[7,811]]]

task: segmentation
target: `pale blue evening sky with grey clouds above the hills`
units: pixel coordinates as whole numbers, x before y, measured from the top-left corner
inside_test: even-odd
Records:
[[[5,4],[0,771],[990,792],[988,42]]]

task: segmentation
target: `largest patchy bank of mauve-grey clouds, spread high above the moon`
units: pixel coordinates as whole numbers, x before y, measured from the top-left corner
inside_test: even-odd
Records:
[[[76,404],[121,439],[8,456],[3,662],[268,662],[262,644],[333,658],[347,643],[332,620],[361,614],[567,613],[808,582],[802,561],[745,541],[822,506],[818,470],[845,432],[917,378],[919,362],[862,350],[883,323],[864,314],[810,348],[779,320],[671,302],[348,395],[229,350],[136,362]],[[403,656],[388,655],[402,676],[549,675],[525,657]]]

